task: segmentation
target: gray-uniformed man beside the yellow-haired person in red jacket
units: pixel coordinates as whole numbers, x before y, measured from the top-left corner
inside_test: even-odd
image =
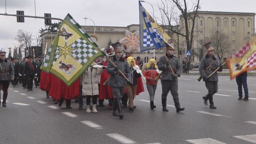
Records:
[[[174,71],[174,74],[171,70]],[[166,99],[169,91],[174,98],[174,104],[176,112],[183,111],[185,108],[180,106],[179,94],[178,94],[178,79],[180,77],[182,67],[177,57],[174,56],[173,44],[166,44],[166,54],[159,59],[158,69],[162,72],[162,106],[163,111],[169,111],[166,108]]]

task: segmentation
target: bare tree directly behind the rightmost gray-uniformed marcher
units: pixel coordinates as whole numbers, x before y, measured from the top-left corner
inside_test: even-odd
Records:
[[[215,54],[217,54],[219,61],[222,61],[224,54],[227,54],[231,47],[229,36],[222,32],[220,27],[215,27],[209,39],[215,48]]]

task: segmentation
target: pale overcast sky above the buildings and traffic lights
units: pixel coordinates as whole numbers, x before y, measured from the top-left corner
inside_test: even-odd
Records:
[[[6,0],[7,13],[16,14],[16,10],[24,10],[25,15],[35,16],[35,1],[37,16],[51,13],[52,17],[64,19],[70,13],[82,26],[85,25],[85,17],[91,18],[96,26],[139,24],[138,0]],[[159,16],[156,8],[159,0],[145,1],[155,7],[155,16]],[[200,10],[203,11],[256,12],[256,0],[200,1]],[[148,3],[142,5],[150,14],[153,13]],[[5,13],[5,0],[0,0],[0,13]],[[93,26],[93,23],[87,20],[86,25]],[[32,31],[36,35],[41,27],[44,27],[44,19],[25,18],[25,23],[17,23],[16,17],[0,16],[0,48],[8,51],[8,47],[18,45],[15,40],[18,29]]]

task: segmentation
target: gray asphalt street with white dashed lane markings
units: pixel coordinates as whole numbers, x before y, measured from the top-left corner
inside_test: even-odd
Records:
[[[59,108],[39,88],[10,86],[7,107],[0,107],[0,144],[256,144],[256,77],[247,77],[249,101],[244,101],[238,100],[236,81],[219,76],[219,90],[213,96],[217,109],[203,104],[207,89],[197,78],[179,78],[183,112],[176,113],[170,93],[169,112],[162,111],[158,81],[156,108],[150,109],[144,85],[145,92],[134,100],[137,108],[130,112],[122,107],[122,120],[112,116],[107,100],[104,107],[97,107],[98,114],[86,113],[74,100],[72,109],[65,103]]]

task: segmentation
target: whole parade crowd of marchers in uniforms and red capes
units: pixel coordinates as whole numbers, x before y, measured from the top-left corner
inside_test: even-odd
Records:
[[[208,93],[202,97],[205,105],[210,103],[210,108],[216,109],[213,102],[213,95],[218,91],[218,72],[222,71],[219,60],[214,56],[214,48],[210,43],[206,43],[207,54],[201,59],[199,72],[205,82]],[[119,42],[110,45],[106,51],[106,57],[99,57],[94,63],[77,79],[71,86],[67,86],[63,81],[51,73],[40,70],[44,57],[27,56],[21,62],[17,58],[6,58],[6,52],[0,52],[0,88],[3,90],[2,106],[6,107],[9,83],[15,87],[22,83],[23,89],[33,91],[35,87],[46,91],[46,98],[52,98],[55,104],[62,106],[66,101],[66,108],[71,108],[71,100],[75,99],[78,109],[86,108],[87,113],[98,113],[97,101],[103,107],[103,101],[108,100],[108,108],[112,110],[112,115],[120,119],[124,117],[122,105],[134,111],[136,95],[144,91],[142,79],[146,80],[146,89],[150,108],[156,108],[154,104],[155,90],[158,79],[162,84],[162,110],[166,108],[166,99],[171,92],[176,108],[176,112],[183,111],[178,94],[178,77],[181,76],[182,66],[177,57],[174,56],[174,46],[166,43],[166,53],[156,63],[155,59],[149,59],[145,66],[140,61],[132,57],[132,53],[124,53]],[[125,55],[125,56],[124,56]],[[189,67],[186,61],[186,73]],[[237,78],[238,100],[243,99],[242,86],[245,97],[248,100],[247,72],[242,73]],[[84,100],[86,107],[83,107]]]

